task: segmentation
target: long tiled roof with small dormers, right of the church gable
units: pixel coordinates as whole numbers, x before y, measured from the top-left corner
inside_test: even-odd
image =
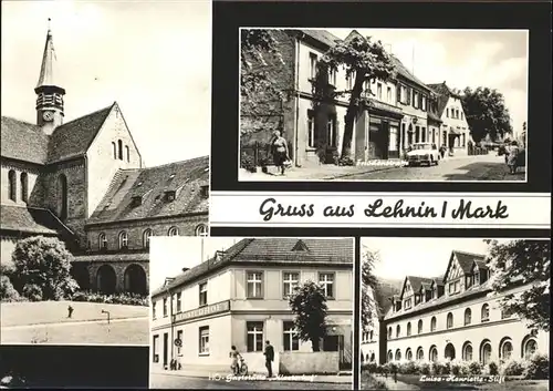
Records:
[[[201,194],[208,185],[209,156],[119,169],[88,224],[208,213],[209,198]],[[175,199],[166,199],[166,192],[175,192]]]

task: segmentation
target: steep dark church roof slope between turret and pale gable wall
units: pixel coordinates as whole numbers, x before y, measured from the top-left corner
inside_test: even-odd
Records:
[[[84,155],[116,104],[58,126],[50,136],[48,162]]]

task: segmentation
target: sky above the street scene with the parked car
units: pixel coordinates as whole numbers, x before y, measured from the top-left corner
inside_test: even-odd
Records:
[[[353,29],[328,29],[346,38]],[[497,89],[514,132],[528,120],[528,30],[356,29],[382,41],[427,84]]]

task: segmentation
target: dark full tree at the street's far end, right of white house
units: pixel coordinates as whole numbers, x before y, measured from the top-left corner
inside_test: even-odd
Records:
[[[479,143],[490,136],[491,141],[512,133],[511,116],[503,94],[497,90],[479,86],[466,88],[461,95],[462,109],[471,128],[472,140]]]

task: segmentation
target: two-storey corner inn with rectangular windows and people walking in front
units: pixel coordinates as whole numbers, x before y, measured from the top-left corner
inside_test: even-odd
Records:
[[[340,366],[349,367],[353,251],[351,239],[242,239],[167,279],[152,292],[153,369],[173,361],[177,368],[228,371],[236,346],[250,371],[264,371],[270,340],[278,373],[281,354],[312,349],[294,332],[289,306],[289,295],[307,280],[322,285],[327,298],[322,350],[338,352]]]

